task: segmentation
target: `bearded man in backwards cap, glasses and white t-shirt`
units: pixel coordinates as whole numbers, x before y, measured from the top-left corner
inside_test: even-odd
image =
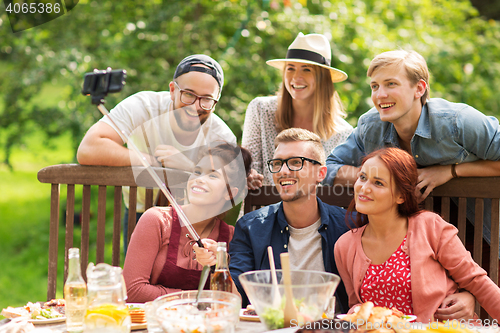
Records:
[[[141,165],[139,156],[124,146],[123,133],[141,149],[153,166],[190,170],[198,150],[208,144],[236,144],[236,137],[213,110],[218,102],[224,74],[217,61],[197,54],[184,58],[169,84],[169,91],[142,91],[111,110],[94,124],[78,147],[84,165]],[[118,128],[115,127],[118,126]],[[194,161],[194,162],[193,162]],[[124,189],[128,208],[128,188]],[[138,193],[137,212],[144,211],[144,191]],[[140,213],[137,216],[139,218]],[[127,246],[128,209],[125,211],[124,244]]]

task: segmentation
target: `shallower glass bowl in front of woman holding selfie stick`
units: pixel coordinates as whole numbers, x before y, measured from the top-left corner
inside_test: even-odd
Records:
[[[153,301],[156,319],[165,333],[232,333],[239,321],[241,297],[203,290],[196,304],[196,290],[158,297]]]

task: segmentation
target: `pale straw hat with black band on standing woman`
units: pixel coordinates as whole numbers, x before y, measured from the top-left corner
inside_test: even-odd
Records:
[[[287,62],[300,62],[320,66],[330,70],[332,82],[342,82],[347,79],[347,74],[340,69],[331,67],[332,50],[325,36],[320,34],[299,35],[288,47],[286,59],[268,60],[266,63],[275,68],[284,70]]]

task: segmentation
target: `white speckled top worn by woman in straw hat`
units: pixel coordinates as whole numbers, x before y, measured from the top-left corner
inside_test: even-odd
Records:
[[[248,104],[243,126],[241,145],[252,154],[252,169],[264,175],[264,185],[273,185],[273,176],[267,168],[267,161],[274,155],[274,139],[278,135],[274,114],[278,109],[278,97],[257,97]],[[339,129],[328,140],[321,140],[325,156],[333,148],[343,143],[353,128],[343,118],[338,117]]]

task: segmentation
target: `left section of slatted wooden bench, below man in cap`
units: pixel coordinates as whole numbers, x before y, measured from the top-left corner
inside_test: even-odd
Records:
[[[135,171],[135,174],[134,174]],[[156,173],[161,179],[166,178],[165,169],[155,168]],[[170,176],[171,170],[169,170]],[[176,175],[177,176],[177,175]],[[187,180],[187,175],[180,172],[177,182]],[[169,178],[170,179],[170,178]],[[42,183],[51,184],[51,203],[50,203],[50,238],[49,238],[49,269],[48,269],[48,287],[47,300],[56,296],[57,290],[57,262],[59,248],[59,211],[61,206],[60,185],[65,184],[66,196],[66,217],[65,217],[65,251],[64,251],[64,281],[67,277],[68,269],[68,250],[73,247],[74,225],[75,225],[75,186],[82,185],[82,209],[81,209],[81,244],[80,260],[82,274],[85,277],[85,271],[89,262],[89,239],[91,232],[96,233],[96,263],[104,262],[105,240],[105,222],[106,222],[106,192],[107,187],[112,187],[114,193],[113,202],[113,237],[112,260],[109,264],[120,266],[120,236],[121,236],[121,212],[122,212],[122,187],[129,186],[129,219],[128,219],[128,239],[135,228],[136,203],[137,203],[137,184],[146,187],[145,207],[153,206],[155,198],[153,189],[158,188],[152,180],[149,173],[142,167],[102,167],[102,166],[82,166],[79,164],[61,164],[53,165],[41,169],[38,172],[38,180]],[[97,223],[91,223],[91,187],[97,186]],[[175,188],[175,184],[170,184]],[[184,185],[185,188],[185,185]],[[80,212],[78,212],[80,213]],[[93,221],[93,219],[92,219]]]

